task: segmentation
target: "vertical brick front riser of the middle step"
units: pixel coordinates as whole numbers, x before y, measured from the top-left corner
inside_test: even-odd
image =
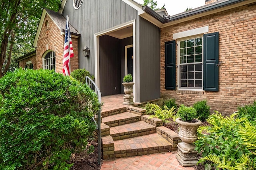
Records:
[[[112,136],[114,141],[117,141],[117,140],[137,137],[137,136],[149,135],[152,133],[156,133],[156,128],[141,129],[139,131],[124,132],[124,133],[115,133],[115,134],[110,134],[110,136]]]

